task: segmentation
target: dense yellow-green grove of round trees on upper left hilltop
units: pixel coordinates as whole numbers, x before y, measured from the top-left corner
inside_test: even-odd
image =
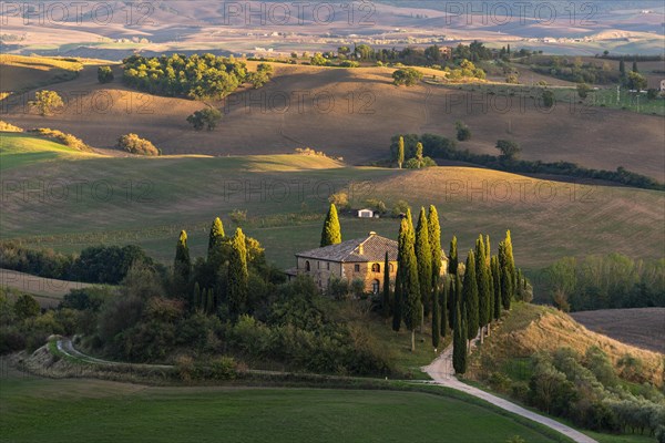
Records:
[[[123,60],[123,81],[131,87],[194,100],[223,99],[243,83],[260,87],[272,75],[268,64],[259,64],[258,71],[252,73],[244,62],[213,54],[154,58],[134,54]]]

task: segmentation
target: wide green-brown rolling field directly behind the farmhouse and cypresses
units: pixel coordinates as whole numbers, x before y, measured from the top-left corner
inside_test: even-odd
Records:
[[[2,156],[19,138],[2,137]],[[27,142],[25,142],[27,141]],[[42,147],[35,147],[37,152]],[[0,157],[0,161],[2,157]],[[479,233],[494,239],[513,233],[515,259],[523,268],[546,266],[563,256],[618,251],[659,258],[665,217],[659,192],[549,182],[472,167],[421,171],[355,167],[305,155],[238,157],[108,157],[72,155],[23,162],[3,171],[3,239],[30,247],[79,251],[99,244],[136,244],[171,264],[181,229],[193,256],[204,255],[214,217],[231,229],[238,223],[266,248],[277,266],[294,266],[294,253],[318,246],[328,196],[346,190],[351,206],[378,198],[392,208],[439,208],[444,245],[457,235],[459,250]],[[35,190],[37,189],[37,190]],[[375,230],[396,237],[398,219],[341,218],[342,238]]]

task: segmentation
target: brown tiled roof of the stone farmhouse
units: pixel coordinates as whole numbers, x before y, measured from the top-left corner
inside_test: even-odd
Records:
[[[383,261],[386,259],[386,251],[388,251],[388,260],[397,261],[397,241],[370,233],[367,237],[306,250],[296,254],[296,256],[328,261],[365,262]]]

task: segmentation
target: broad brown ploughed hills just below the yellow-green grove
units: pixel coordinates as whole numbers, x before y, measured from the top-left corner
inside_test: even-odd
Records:
[[[247,65],[255,70],[257,63]],[[225,102],[205,103],[132,90],[121,81],[121,66],[113,68],[112,83],[99,84],[96,66],[85,66],[78,79],[51,87],[70,99],[62,112],[43,119],[19,100],[8,104],[3,119],[27,128],[50,125],[100,148],[112,148],[117,137],[134,132],[165,154],[284,154],[309,146],[351,164],[387,157],[390,137],[398,133],[454,137],[454,122],[461,120],[473,136],[460,147],[474,153],[497,154],[497,140],[511,138],[521,143],[524,159],[610,171],[623,166],[665,179],[662,116],[606,107],[589,112],[566,103],[543,110],[534,100],[484,91],[484,83],[474,85],[473,94],[427,83],[398,87],[393,68],[273,66],[273,80],[259,90],[245,86]],[[441,75],[419,70],[426,79]],[[195,132],[186,117],[206,104],[225,115],[215,131]]]

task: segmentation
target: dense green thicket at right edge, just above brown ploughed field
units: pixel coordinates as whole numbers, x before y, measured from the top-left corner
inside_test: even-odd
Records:
[[[564,257],[538,271],[538,300],[565,311],[665,307],[665,258]]]

